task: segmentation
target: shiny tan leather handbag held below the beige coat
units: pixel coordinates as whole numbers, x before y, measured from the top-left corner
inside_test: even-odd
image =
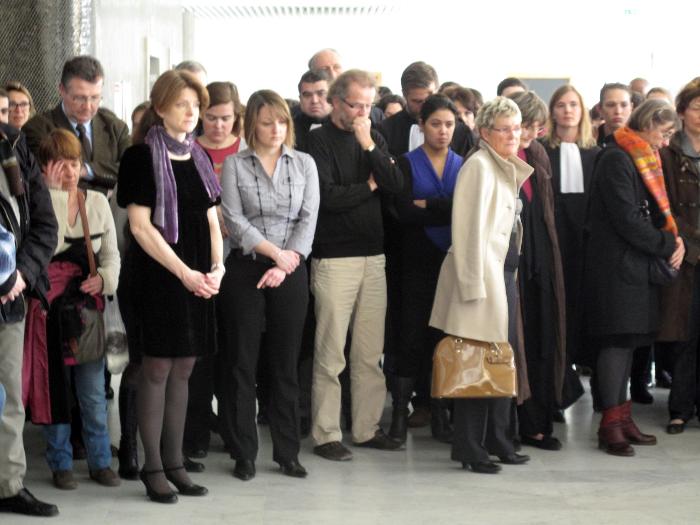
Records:
[[[432,397],[515,397],[515,358],[509,343],[448,335],[435,347]]]

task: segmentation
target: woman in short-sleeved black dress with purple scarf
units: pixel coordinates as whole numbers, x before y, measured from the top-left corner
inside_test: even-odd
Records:
[[[141,354],[132,356],[141,360],[141,480],[149,498],[160,503],[177,501],[168,480],[180,494],[207,493],[185,472],[182,436],[192,367],[216,346],[211,298],[225,271],[215,208],[221,189],[192,137],[208,101],[192,74],[161,75],[119,168],[117,200],[127,208],[135,241],[126,253],[120,291],[127,292],[129,329]]]

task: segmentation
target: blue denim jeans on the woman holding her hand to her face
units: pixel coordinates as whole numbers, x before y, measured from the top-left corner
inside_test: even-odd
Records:
[[[104,359],[74,367],[75,390],[83,419],[83,441],[91,471],[109,467],[112,463],[107,430],[107,400],[105,399]],[[73,468],[73,447],[70,424],[46,425],[46,460],[53,472]]]

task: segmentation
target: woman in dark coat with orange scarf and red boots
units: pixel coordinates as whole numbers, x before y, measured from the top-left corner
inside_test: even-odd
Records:
[[[633,456],[631,445],[656,444],[632,420],[627,383],[634,349],[651,344],[659,330],[668,266],[680,268],[685,255],[659,157],[677,127],[668,103],[643,102],[613,133],[593,175],[584,305],[603,411],[598,444],[615,456]]]

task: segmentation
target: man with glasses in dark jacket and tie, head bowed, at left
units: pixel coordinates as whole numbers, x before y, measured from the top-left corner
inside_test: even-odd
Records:
[[[101,108],[104,71],[97,59],[76,56],[63,66],[58,92],[61,102],[36,115],[22,128],[36,155],[42,139],[55,128],[76,134],[83,150],[81,186],[107,194],[117,183],[119,161],[129,147],[129,128]]]

